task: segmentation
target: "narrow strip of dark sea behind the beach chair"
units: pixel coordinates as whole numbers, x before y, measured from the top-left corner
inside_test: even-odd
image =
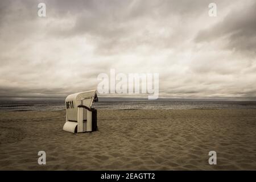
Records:
[[[170,100],[102,100],[95,109],[256,109],[255,101],[170,101]],[[0,101],[0,111],[65,110],[64,101]]]

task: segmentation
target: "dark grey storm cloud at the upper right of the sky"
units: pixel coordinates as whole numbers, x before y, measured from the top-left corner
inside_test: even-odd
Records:
[[[240,51],[256,50],[256,2],[243,9],[230,11],[223,21],[207,30],[199,31],[196,42],[211,42],[225,40],[229,49]]]

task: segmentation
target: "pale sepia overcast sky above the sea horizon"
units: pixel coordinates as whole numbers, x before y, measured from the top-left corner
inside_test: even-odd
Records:
[[[97,89],[111,68],[159,73],[159,97],[256,98],[254,0],[1,0],[0,40],[0,100]]]

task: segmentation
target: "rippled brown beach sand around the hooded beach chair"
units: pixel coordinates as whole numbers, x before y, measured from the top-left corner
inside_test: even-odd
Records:
[[[255,110],[98,110],[99,131],[80,134],[64,122],[65,111],[1,111],[0,169],[256,170]]]

